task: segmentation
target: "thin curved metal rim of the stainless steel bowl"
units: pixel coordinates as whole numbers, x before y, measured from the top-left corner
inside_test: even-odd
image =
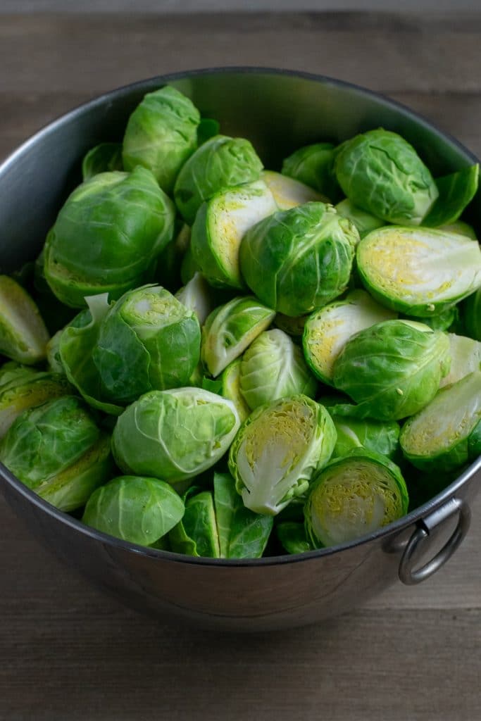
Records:
[[[82,115],[85,112],[89,112],[93,107],[96,107],[97,105],[103,105],[105,102],[109,102],[110,99],[119,99],[123,95],[131,94],[135,89],[141,89],[142,87],[149,88],[151,86],[154,86],[155,84],[167,84],[169,82],[175,82],[178,80],[185,80],[189,79],[193,76],[201,76],[201,75],[229,75],[229,74],[253,74],[253,75],[275,75],[275,76],[288,76],[292,78],[301,78],[308,81],[313,81],[317,84],[324,84],[324,85],[332,85],[335,87],[343,87],[345,89],[350,89],[351,91],[356,92],[357,94],[361,96],[367,96],[372,97],[376,100],[380,105],[385,105],[389,108],[392,108],[394,110],[399,111],[402,115],[405,115],[408,118],[412,118],[412,120],[415,120],[415,123],[417,125],[420,125],[421,127],[425,128],[427,131],[432,133],[433,135],[439,136],[442,138],[443,141],[448,141],[451,143],[452,146],[462,155],[468,162],[480,162],[479,159],[473,154],[469,149],[467,149],[462,143],[460,143],[454,136],[451,136],[450,133],[441,131],[440,128],[438,128],[436,125],[431,123],[431,121],[427,120],[423,117],[423,115],[418,114],[417,112],[413,111],[410,107],[407,107],[406,105],[403,105],[401,102],[398,102],[397,100],[391,99],[387,97],[387,95],[375,92],[374,90],[371,90],[369,88],[363,87],[361,85],[351,83],[349,81],[341,80],[332,78],[330,76],[325,76],[322,74],[315,74],[310,73],[306,71],[296,71],[291,70],[288,68],[272,68],[269,66],[220,66],[220,67],[206,67],[206,68],[195,68],[193,70],[183,70],[183,71],[176,71],[174,73],[167,73],[162,75],[156,75],[151,76],[149,78],[141,79],[138,81],[134,81],[132,83],[121,85],[115,89],[112,89],[108,92],[102,93],[100,95],[96,95],[92,97],[92,99],[87,100],[86,102],[83,102],[79,105],[74,106],[71,110],[59,115],[54,120],[50,121],[47,125],[44,125],[42,128],[40,128],[38,131],[36,131],[32,136],[27,138],[23,143],[21,143],[17,149],[14,149],[12,153],[10,153],[4,161],[0,164],[0,177],[1,175],[5,174],[9,171],[10,167],[14,166],[14,164],[17,162],[17,159],[22,157],[25,152],[27,152],[30,147],[35,146],[35,144],[38,141],[41,141],[41,139],[45,136],[50,135],[50,133],[55,133],[57,128],[61,125],[68,124],[71,120],[76,118],[79,115]],[[149,92],[146,89],[146,92]],[[43,500],[40,496],[38,496],[35,491],[30,490],[25,484],[22,483],[17,477],[12,474],[9,469],[4,466],[0,462],[0,478],[2,480],[2,485],[4,485],[4,482],[6,482],[7,485],[12,487],[12,489],[17,492],[19,495],[23,496],[27,501],[32,503],[37,509],[43,511],[47,514],[47,516],[50,516],[55,521],[58,521],[58,523],[63,524],[64,526],[67,526],[71,528],[74,531],[78,531],[80,534],[83,534],[84,536],[88,536],[90,539],[94,541],[98,541],[101,544],[109,545],[111,547],[114,547],[115,549],[118,549],[119,551],[123,552],[131,552],[133,554],[140,554],[147,557],[152,558],[162,558],[165,560],[168,560],[170,562],[177,562],[182,564],[190,564],[190,565],[200,565],[200,566],[209,566],[209,567],[264,567],[264,566],[272,566],[272,565],[285,565],[290,563],[300,563],[300,562],[312,562],[314,559],[318,559],[320,557],[324,556],[331,556],[333,554],[337,554],[340,552],[343,552],[348,549],[354,549],[358,546],[361,546],[363,544],[368,543],[369,541],[376,541],[381,538],[386,539],[392,539],[392,536],[397,536],[397,534],[400,534],[402,531],[405,531],[406,528],[409,528],[414,523],[418,523],[419,521],[422,521],[424,516],[428,516],[429,513],[431,513],[433,510],[436,510],[440,508],[444,503],[446,503],[447,500],[449,500],[451,497],[454,497],[456,492],[464,486],[469,479],[475,476],[478,472],[481,472],[481,456],[478,457],[476,461],[474,461],[472,464],[470,464],[467,468],[464,469],[462,474],[459,475],[451,484],[446,486],[444,490],[439,492],[437,495],[433,496],[430,500],[423,503],[423,505],[420,505],[418,508],[415,508],[414,510],[410,511],[410,513],[407,513],[405,516],[402,516],[401,518],[398,518],[397,521],[394,521],[392,523],[389,523],[387,526],[384,526],[383,528],[378,528],[376,531],[372,531],[369,534],[364,534],[363,536],[359,536],[358,538],[354,539],[353,541],[347,541],[343,544],[337,544],[332,547],[327,548],[321,548],[321,549],[314,549],[312,551],[306,551],[302,553],[297,554],[280,554],[278,556],[266,556],[261,558],[249,558],[249,559],[224,559],[224,558],[207,558],[207,557],[194,557],[194,556],[187,556],[180,553],[175,553],[171,551],[165,551],[162,549],[155,549],[151,547],[141,546],[139,544],[134,544],[131,541],[123,541],[123,539],[118,539],[115,536],[110,536],[110,534],[105,534],[102,531],[97,531],[96,528],[92,528],[91,526],[87,526],[86,524],[82,523],[77,518],[74,518],[74,516],[70,516],[69,513],[66,513],[64,511],[58,510],[55,506],[48,503],[48,501]],[[1,485],[0,485],[1,490]],[[6,496],[7,503],[9,503],[8,495]]]

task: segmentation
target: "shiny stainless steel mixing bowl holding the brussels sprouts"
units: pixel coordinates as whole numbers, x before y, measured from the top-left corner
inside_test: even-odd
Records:
[[[477,162],[453,138],[402,105],[334,79],[262,68],[159,76],[123,87],[63,115],[0,167],[0,267],[35,258],[58,208],[80,180],[80,160],[100,141],[120,140],[146,92],[170,83],[222,132],[254,143],[278,169],[297,147],[334,142],[382,126],[407,138],[440,175]],[[481,195],[470,220],[481,229]],[[340,614],[392,583],[428,578],[469,528],[481,458],[449,487],[400,521],[333,548],[252,560],[191,558],[112,538],[61,513],[3,466],[6,500],[43,544],[120,601],[218,629],[294,627]],[[438,534],[438,531],[441,531]],[[436,547],[433,539],[441,537]]]

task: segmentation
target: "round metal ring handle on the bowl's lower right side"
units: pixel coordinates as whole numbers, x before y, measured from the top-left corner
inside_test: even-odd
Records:
[[[458,522],[449,539],[430,561],[415,569],[415,562],[419,558],[420,552],[425,549],[426,541],[429,540],[436,526],[440,526],[441,523],[451,518],[454,513],[458,514]],[[436,573],[438,568],[441,568],[451,558],[464,536],[466,536],[470,521],[471,511],[469,505],[459,498],[451,498],[444,505],[441,505],[441,508],[437,508],[433,513],[418,521],[418,527],[407,541],[400,561],[399,577],[402,583],[415,585],[415,583],[420,583],[433,575],[433,573]]]

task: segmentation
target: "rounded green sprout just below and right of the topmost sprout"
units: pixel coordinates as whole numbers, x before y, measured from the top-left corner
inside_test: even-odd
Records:
[[[192,225],[204,200],[223,188],[257,180],[261,170],[262,162],[248,140],[214,136],[182,166],[174,188],[177,208]]]

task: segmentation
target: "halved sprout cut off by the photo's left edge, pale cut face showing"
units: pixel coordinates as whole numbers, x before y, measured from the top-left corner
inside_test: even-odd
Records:
[[[27,291],[0,275],[0,353],[12,361],[33,365],[46,355],[48,330]]]

